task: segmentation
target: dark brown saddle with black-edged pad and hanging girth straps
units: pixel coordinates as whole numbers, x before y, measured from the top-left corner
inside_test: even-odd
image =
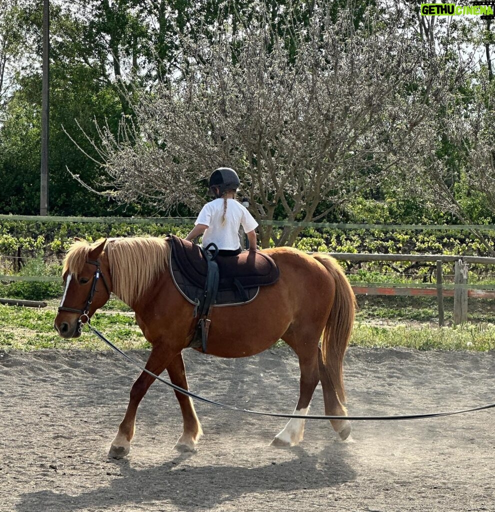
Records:
[[[189,347],[202,347],[206,342],[213,306],[246,304],[254,300],[260,286],[278,280],[275,262],[262,252],[244,251],[236,256],[219,256],[218,248],[207,248],[169,235],[170,273],[177,289],[195,304],[193,316],[199,318],[195,336]]]

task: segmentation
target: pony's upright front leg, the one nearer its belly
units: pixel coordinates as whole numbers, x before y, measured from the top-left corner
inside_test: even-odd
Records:
[[[177,354],[174,359],[170,361],[170,364],[167,366],[167,372],[170,376],[170,380],[176,386],[185,390],[188,389],[182,353]],[[174,448],[179,452],[192,452],[199,438],[203,435],[201,424],[194,410],[191,398],[179,391],[175,391],[175,394],[181,407],[184,430]]]

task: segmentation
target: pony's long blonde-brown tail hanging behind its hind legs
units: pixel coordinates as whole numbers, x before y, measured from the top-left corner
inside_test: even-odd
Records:
[[[324,254],[314,254],[313,256],[328,270],[335,282],[335,298],[323,331],[321,356],[337,397],[343,404],[346,401],[343,359],[354,325],[356,297],[346,274],[335,259]]]

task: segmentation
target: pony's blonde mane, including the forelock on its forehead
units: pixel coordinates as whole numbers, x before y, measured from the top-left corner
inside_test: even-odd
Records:
[[[89,253],[101,243],[74,242],[63,262],[63,273],[69,271],[77,279]],[[133,306],[158,275],[168,268],[168,239],[157,237],[108,239],[102,256],[110,266],[113,292]]]

